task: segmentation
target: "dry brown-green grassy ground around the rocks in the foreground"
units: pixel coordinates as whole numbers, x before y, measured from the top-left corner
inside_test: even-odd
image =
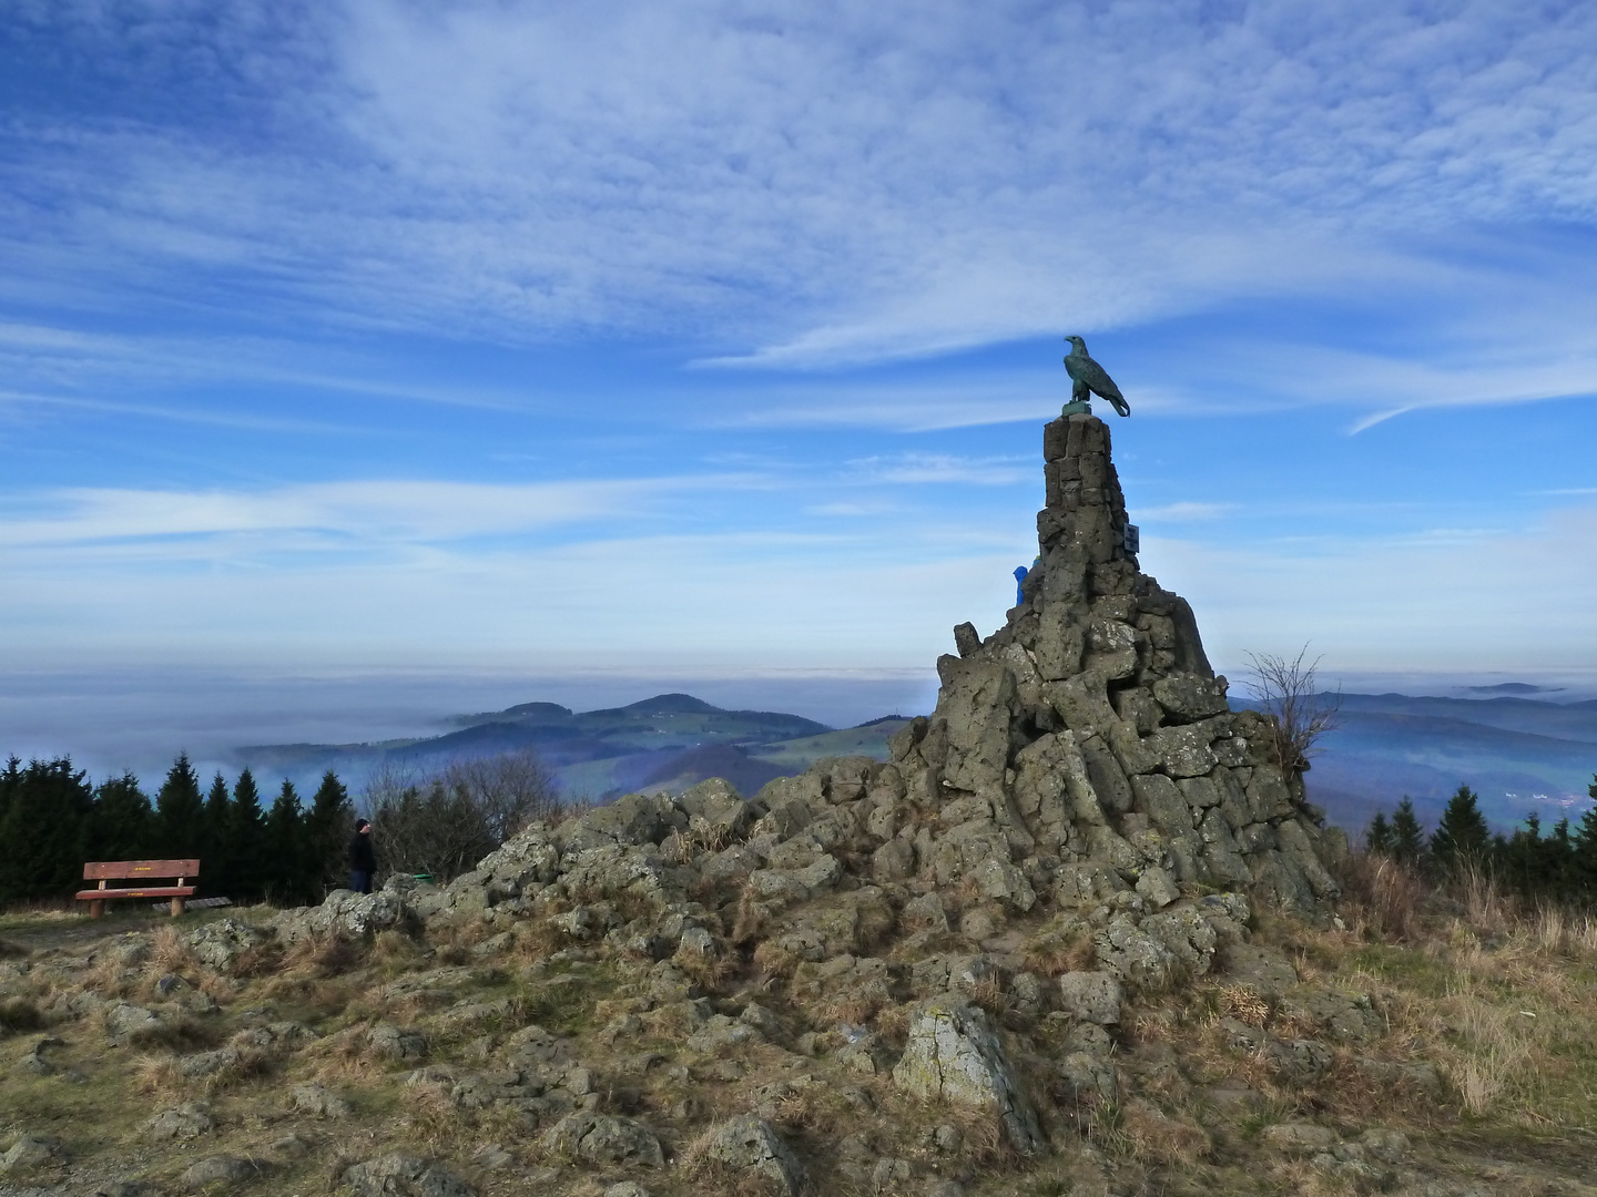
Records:
[[[1070,1025],[1019,1017],[1001,985],[984,994],[1057,1148],[1030,1160],[1008,1154],[979,1116],[905,1100],[885,1066],[842,1063],[837,1021],[875,1031],[890,1058],[902,1045],[904,1001],[829,994],[813,966],[771,951],[762,962],[759,942],[714,967],[692,966],[690,980],[706,1009],[735,1015],[757,1001],[786,1033],[706,1055],[687,1044],[688,1002],[648,998],[658,969],[530,919],[505,938],[473,924],[267,946],[216,972],[184,935],[271,911],[168,919],[125,910],[99,922],[19,911],[0,918],[0,1151],[21,1135],[59,1146],[38,1168],[0,1176],[0,1192],[26,1181],[75,1195],[125,1179],[179,1192],[196,1159],[219,1154],[254,1167],[222,1191],[327,1192],[348,1163],[394,1149],[452,1160],[489,1195],[597,1195],[623,1179],[656,1197],[739,1192],[747,1181],[739,1189],[693,1162],[707,1127],[751,1108],[806,1159],[816,1192],[920,1194],[937,1178],[968,1194],[1036,1197],[1597,1192],[1597,926],[1517,908],[1477,879],[1434,892],[1373,860],[1356,862],[1346,884],[1333,929],[1255,913],[1249,959],[1289,964],[1284,983],[1263,983],[1238,956],[1140,996],[1113,1031],[1110,1096],[1059,1090]],[[961,946],[952,932],[939,943],[909,930],[891,919],[872,927],[870,951],[910,964]],[[1081,964],[1041,916],[1003,935],[1000,946],[1036,972]],[[161,1026],[113,1045],[104,1004],[118,1001],[157,1010]],[[262,1041],[260,1028],[284,1023],[310,1034]],[[425,1058],[375,1050],[380,1025],[423,1031]],[[585,1069],[561,1084],[645,1122],[679,1163],[573,1165],[527,1109],[470,1106],[447,1082],[410,1082],[418,1066],[497,1076],[506,1047],[535,1026]],[[803,1031],[811,1041],[800,1045]],[[24,1066],[42,1039],[57,1041],[38,1052],[48,1076]],[[1311,1074],[1282,1069],[1266,1044],[1314,1045],[1297,1049],[1313,1058]],[[228,1047],[236,1058],[185,1074],[185,1061]],[[347,1112],[300,1108],[308,1084]],[[214,1125],[155,1138],[152,1116],[190,1101]],[[928,1146],[950,1127],[955,1148]],[[1282,1138],[1303,1127],[1337,1146]],[[853,1156],[905,1170],[848,1179]]]

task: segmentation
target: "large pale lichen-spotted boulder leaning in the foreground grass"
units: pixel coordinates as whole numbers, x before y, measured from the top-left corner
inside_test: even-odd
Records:
[[[957,998],[934,998],[920,1007],[893,1080],[920,1098],[995,1111],[1022,1156],[1043,1144],[1036,1114],[992,1021]]]

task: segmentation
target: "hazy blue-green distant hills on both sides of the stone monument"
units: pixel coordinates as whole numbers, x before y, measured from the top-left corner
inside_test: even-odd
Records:
[[[1310,796],[1349,832],[1404,795],[1434,825],[1460,784],[1480,795],[1498,827],[1530,811],[1547,824],[1565,814],[1578,819],[1597,772],[1597,701],[1525,696],[1538,689],[1511,681],[1479,689],[1480,697],[1324,694],[1322,701],[1340,702],[1340,718],[1308,774]],[[888,737],[907,720],[888,715],[834,729],[802,715],[723,710],[692,694],[656,694],[588,712],[522,702],[449,723],[450,731],[425,739],[270,744],[238,749],[235,757],[303,785],[335,769],[359,787],[383,764],[426,771],[457,758],[535,749],[572,796],[676,792],[704,777],[727,777],[739,793],[754,793],[821,757],[886,760]]]

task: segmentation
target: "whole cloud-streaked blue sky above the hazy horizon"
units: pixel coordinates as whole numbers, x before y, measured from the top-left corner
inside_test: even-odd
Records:
[[[1078,332],[1222,667],[1597,675],[1592,5],[6,10],[0,670],[925,678]]]

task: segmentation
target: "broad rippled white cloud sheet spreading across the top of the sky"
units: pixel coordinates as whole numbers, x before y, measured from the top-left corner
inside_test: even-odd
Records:
[[[200,270],[268,314],[813,365],[1238,297],[1380,306],[1464,228],[1597,214],[1579,5],[188,11],[150,70],[248,56],[206,86],[295,136],[11,126],[45,196],[10,201],[29,286]]]

